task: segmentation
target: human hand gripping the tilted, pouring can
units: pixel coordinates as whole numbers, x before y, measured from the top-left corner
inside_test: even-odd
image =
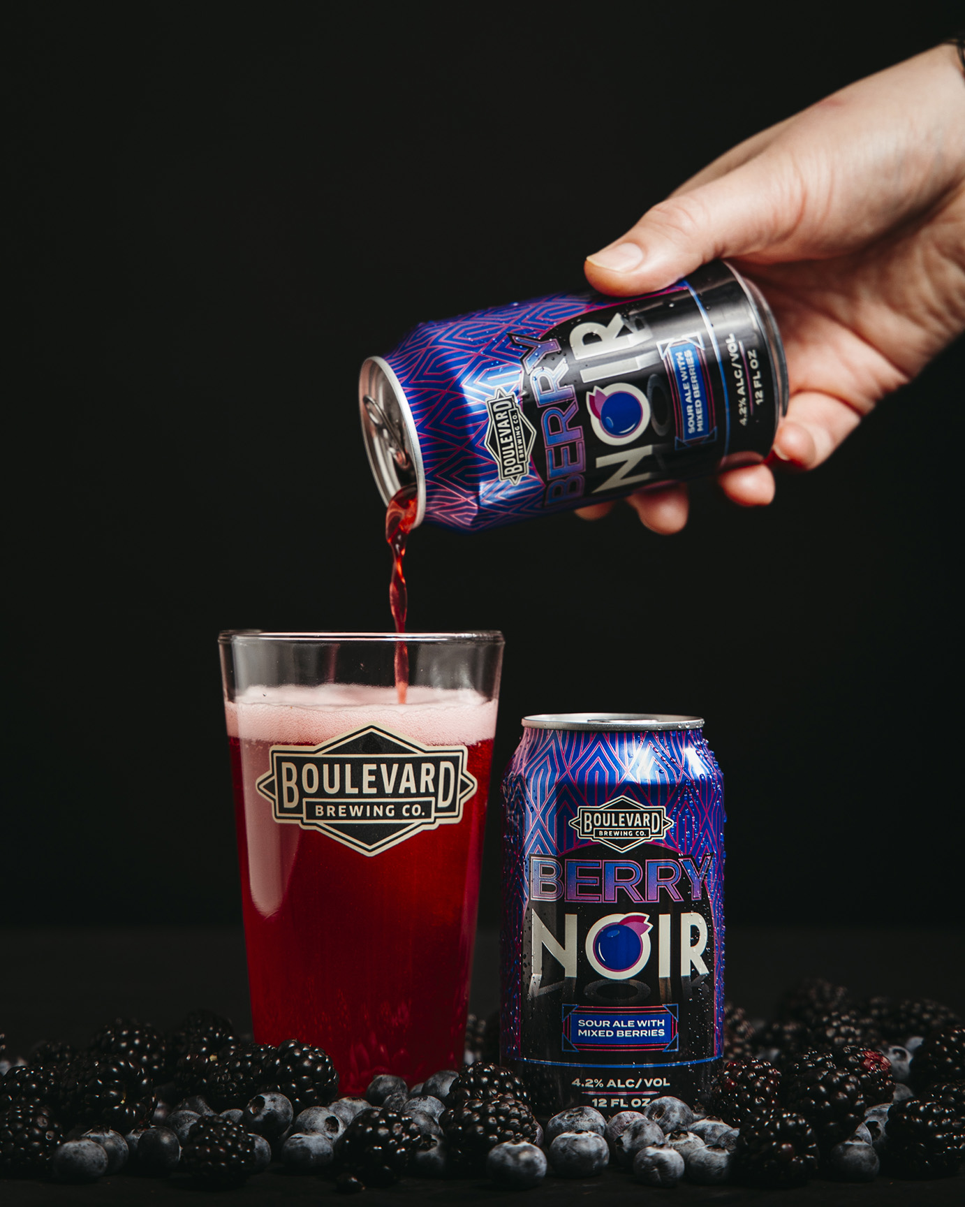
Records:
[[[585,270],[603,293],[631,296],[715,258],[760,286],[788,358],[790,403],[771,457],[718,478],[733,502],[761,506],[774,496],[776,461],[820,465],[879,398],[965,331],[965,80],[955,49],[918,54],[739,144]],[[683,485],[627,501],[656,532],[686,523]]]

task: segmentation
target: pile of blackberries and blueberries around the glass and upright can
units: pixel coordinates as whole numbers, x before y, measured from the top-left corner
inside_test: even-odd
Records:
[[[531,1095],[546,1088],[496,1063],[498,1019],[470,1016],[461,1069],[415,1086],[382,1073],[363,1098],[338,1097],[321,1048],[255,1044],[207,1010],[168,1033],[117,1019],[83,1051],[45,1043],[28,1060],[0,1037],[0,1176],[124,1170],[227,1189],[276,1162],[351,1193],[403,1174],[527,1189],[615,1166],[651,1186],[796,1186],[947,1177],[965,1161],[965,1025],[947,1007],[859,1003],[809,980],[768,1024],[729,1004],[724,1034],[700,1102],[653,1098],[609,1119],[577,1106],[545,1131]]]

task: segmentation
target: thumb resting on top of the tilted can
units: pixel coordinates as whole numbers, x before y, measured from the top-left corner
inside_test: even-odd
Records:
[[[648,293],[723,256],[777,260],[801,208],[789,157],[765,153],[648,210],[587,257],[586,279],[603,293]]]

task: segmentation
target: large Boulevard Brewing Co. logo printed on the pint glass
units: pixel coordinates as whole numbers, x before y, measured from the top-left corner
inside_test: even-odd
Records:
[[[273,746],[256,783],[276,822],[317,829],[362,855],[462,821],[476,789],[464,746],[422,746],[379,725],[321,746]]]

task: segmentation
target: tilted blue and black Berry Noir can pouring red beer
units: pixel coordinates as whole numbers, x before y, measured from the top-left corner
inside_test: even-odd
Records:
[[[721,262],[420,323],[358,390],[384,501],[408,486],[416,524],[470,530],[760,461],[786,400],[767,303]]]

